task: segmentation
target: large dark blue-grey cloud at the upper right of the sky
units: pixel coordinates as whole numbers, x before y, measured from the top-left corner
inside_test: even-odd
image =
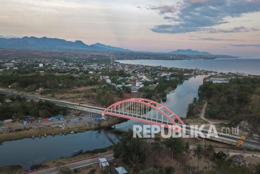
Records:
[[[147,9],[166,14],[164,19],[171,24],[157,25],[151,28],[157,33],[236,33],[258,31],[259,28],[244,26],[230,29],[215,28],[229,23],[226,18],[241,17],[247,13],[260,11],[260,0],[184,0],[175,6],[150,6]]]

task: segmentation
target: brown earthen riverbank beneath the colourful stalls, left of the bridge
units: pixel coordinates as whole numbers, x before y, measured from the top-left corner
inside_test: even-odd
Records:
[[[125,119],[111,116],[109,119],[107,119],[105,122],[102,122],[101,125],[98,125],[95,123],[94,129],[100,129],[100,128],[107,128],[111,127],[113,125],[119,124],[126,121]],[[87,124],[86,124],[87,125]],[[88,130],[93,130],[92,126],[86,126],[84,124],[78,125],[76,128],[51,128],[39,130],[38,127],[30,128],[30,129],[24,129],[21,131],[14,131],[14,132],[7,132],[7,133],[1,133],[0,134],[0,144],[5,141],[14,141],[14,140],[21,140],[24,138],[31,138],[33,135],[35,137],[38,137],[39,135],[44,138],[44,134],[47,134],[48,136],[51,136],[52,134],[58,135],[59,133],[70,133],[71,131],[74,131],[74,133],[77,132],[83,132]]]

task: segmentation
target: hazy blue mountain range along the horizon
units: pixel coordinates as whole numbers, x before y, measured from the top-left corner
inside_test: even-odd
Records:
[[[90,51],[113,51],[113,52],[137,52],[130,49],[123,49],[119,47],[113,47],[110,45],[105,45],[102,43],[95,43],[92,45],[87,45],[80,40],[76,40],[75,42],[66,41],[64,39],[59,38],[37,38],[37,37],[23,37],[23,38],[0,38],[0,48],[5,49],[82,49],[82,50],[90,50]],[[140,53],[141,51],[138,51]],[[145,52],[143,52],[145,53]],[[185,55],[213,55],[208,52],[200,52],[191,49],[181,50],[178,49],[176,51],[169,52],[167,54],[185,54]]]

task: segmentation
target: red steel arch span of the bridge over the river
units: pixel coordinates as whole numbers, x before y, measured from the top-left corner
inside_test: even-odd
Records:
[[[102,116],[112,115],[152,125],[164,125],[170,129],[181,129],[185,125],[174,112],[153,100],[134,98],[114,103],[102,111]],[[176,121],[176,122],[175,122]]]

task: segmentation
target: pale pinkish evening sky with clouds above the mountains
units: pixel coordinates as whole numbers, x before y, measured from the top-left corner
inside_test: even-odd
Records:
[[[260,0],[0,0],[0,37],[260,58]]]

